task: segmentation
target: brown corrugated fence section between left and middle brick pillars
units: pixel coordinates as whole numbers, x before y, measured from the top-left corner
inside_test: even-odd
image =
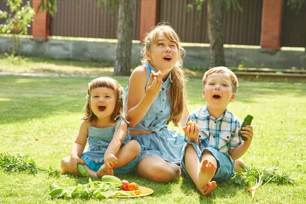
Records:
[[[133,39],[139,39],[140,1],[134,0]],[[107,5],[101,12],[97,1],[76,0],[58,1],[58,12],[50,18],[50,35],[86,37],[86,38],[117,38],[118,10],[108,12]]]

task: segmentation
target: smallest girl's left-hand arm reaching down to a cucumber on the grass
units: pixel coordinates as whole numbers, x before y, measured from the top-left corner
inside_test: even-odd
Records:
[[[70,168],[77,173],[77,165],[78,163],[84,164],[84,161],[80,159],[84,148],[86,146],[86,138],[88,137],[88,128],[89,123],[82,121],[79,134],[77,139],[75,139],[74,143],[72,144],[71,152],[70,152]]]

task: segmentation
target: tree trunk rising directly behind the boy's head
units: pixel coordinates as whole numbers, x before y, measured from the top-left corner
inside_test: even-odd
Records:
[[[223,1],[220,0],[208,0],[207,4],[208,37],[211,45],[211,67],[225,66],[222,4]]]

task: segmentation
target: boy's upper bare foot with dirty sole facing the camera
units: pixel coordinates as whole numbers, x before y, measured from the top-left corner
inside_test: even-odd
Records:
[[[217,167],[215,164],[207,159],[201,162],[201,167],[198,174],[199,189],[204,189],[204,187],[211,183],[210,181],[214,177],[216,169]]]

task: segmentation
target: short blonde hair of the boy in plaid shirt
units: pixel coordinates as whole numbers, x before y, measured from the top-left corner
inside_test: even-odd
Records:
[[[236,74],[231,69],[228,69],[227,67],[214,67],[214,68],[211,68],[211,69],[207,70],[204,73],[203,79],[202,79],[204,89],[205,89],[205,85],[206,85],[206,80],[207,80],[208,76],[211,75],[212,73],[222,73],[222,74],[230,75],[231,81],[232,81],[232,91],[233,91],[233,93],[236,93],[236,91],[238,89],[238,79],[236,77]]]

